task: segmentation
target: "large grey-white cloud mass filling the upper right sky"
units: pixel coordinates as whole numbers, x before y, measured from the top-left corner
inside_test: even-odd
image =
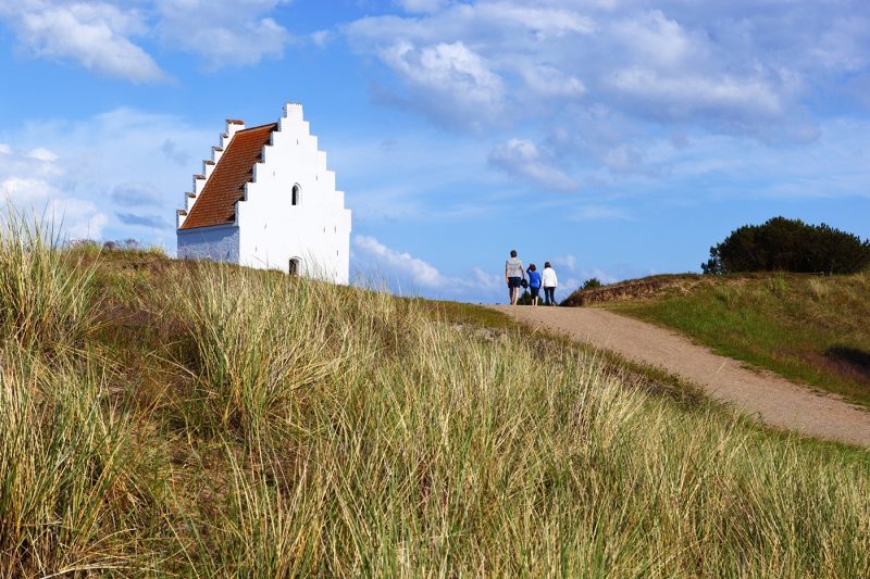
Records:
[[[402,87],[385,83],[394,98],[382,103],[450,128],[534,123],[543,135],[571,135],[548,138],[554,156],[644,173],[645,149],[661,127],[762,142],[817,139],[824,114],[837,113],[836,97],[855,91],[850,79],[870,65],[865,4],[420,2],[406,5],[412,14],[360,18],[343,32]],[[421,54],[443,46],[474,54],[498,78],[497,90],[424,66]],[[474,98],[481,93],[488,106]]]

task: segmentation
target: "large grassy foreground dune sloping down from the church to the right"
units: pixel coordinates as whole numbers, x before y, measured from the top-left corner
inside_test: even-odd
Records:
[[[468,311],[0,248],[0,577],[870,572],[865,451]]]

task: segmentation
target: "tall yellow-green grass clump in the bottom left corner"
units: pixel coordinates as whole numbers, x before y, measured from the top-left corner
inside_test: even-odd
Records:
[[[141,567],[129,428],[104,408],[101,380],[94,368],[2,352],[0,577]]]

